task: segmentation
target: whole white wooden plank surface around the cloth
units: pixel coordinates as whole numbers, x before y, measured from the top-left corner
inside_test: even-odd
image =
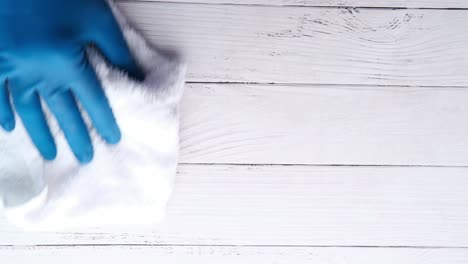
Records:
[[[166,222],[0,220],[0,263],[468,263],[468,1],[120,6],[190,63]]]

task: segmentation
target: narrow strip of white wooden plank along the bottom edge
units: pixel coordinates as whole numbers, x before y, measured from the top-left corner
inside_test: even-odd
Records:
[[[0,262],[15,264],[460,264],[467,249],[294,247],[0,247]]]

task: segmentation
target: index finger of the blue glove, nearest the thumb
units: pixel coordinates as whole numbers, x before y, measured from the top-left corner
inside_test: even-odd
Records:
[[[109,144],[118,143],[121,138],[120,129],[101,83],[88,62],[81,78],[73,84],[72,91],[102,138]]]

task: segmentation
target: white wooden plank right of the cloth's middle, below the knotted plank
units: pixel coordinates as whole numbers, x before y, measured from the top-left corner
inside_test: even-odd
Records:
[[[468,89],[188,85],[185,163],[468,165]]]

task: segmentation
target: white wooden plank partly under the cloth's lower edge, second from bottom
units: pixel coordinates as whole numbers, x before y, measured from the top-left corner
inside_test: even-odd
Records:
[[[179,169],[152,230],[24,233],[1,245],[468,246],[468,168],[197,166]]]

